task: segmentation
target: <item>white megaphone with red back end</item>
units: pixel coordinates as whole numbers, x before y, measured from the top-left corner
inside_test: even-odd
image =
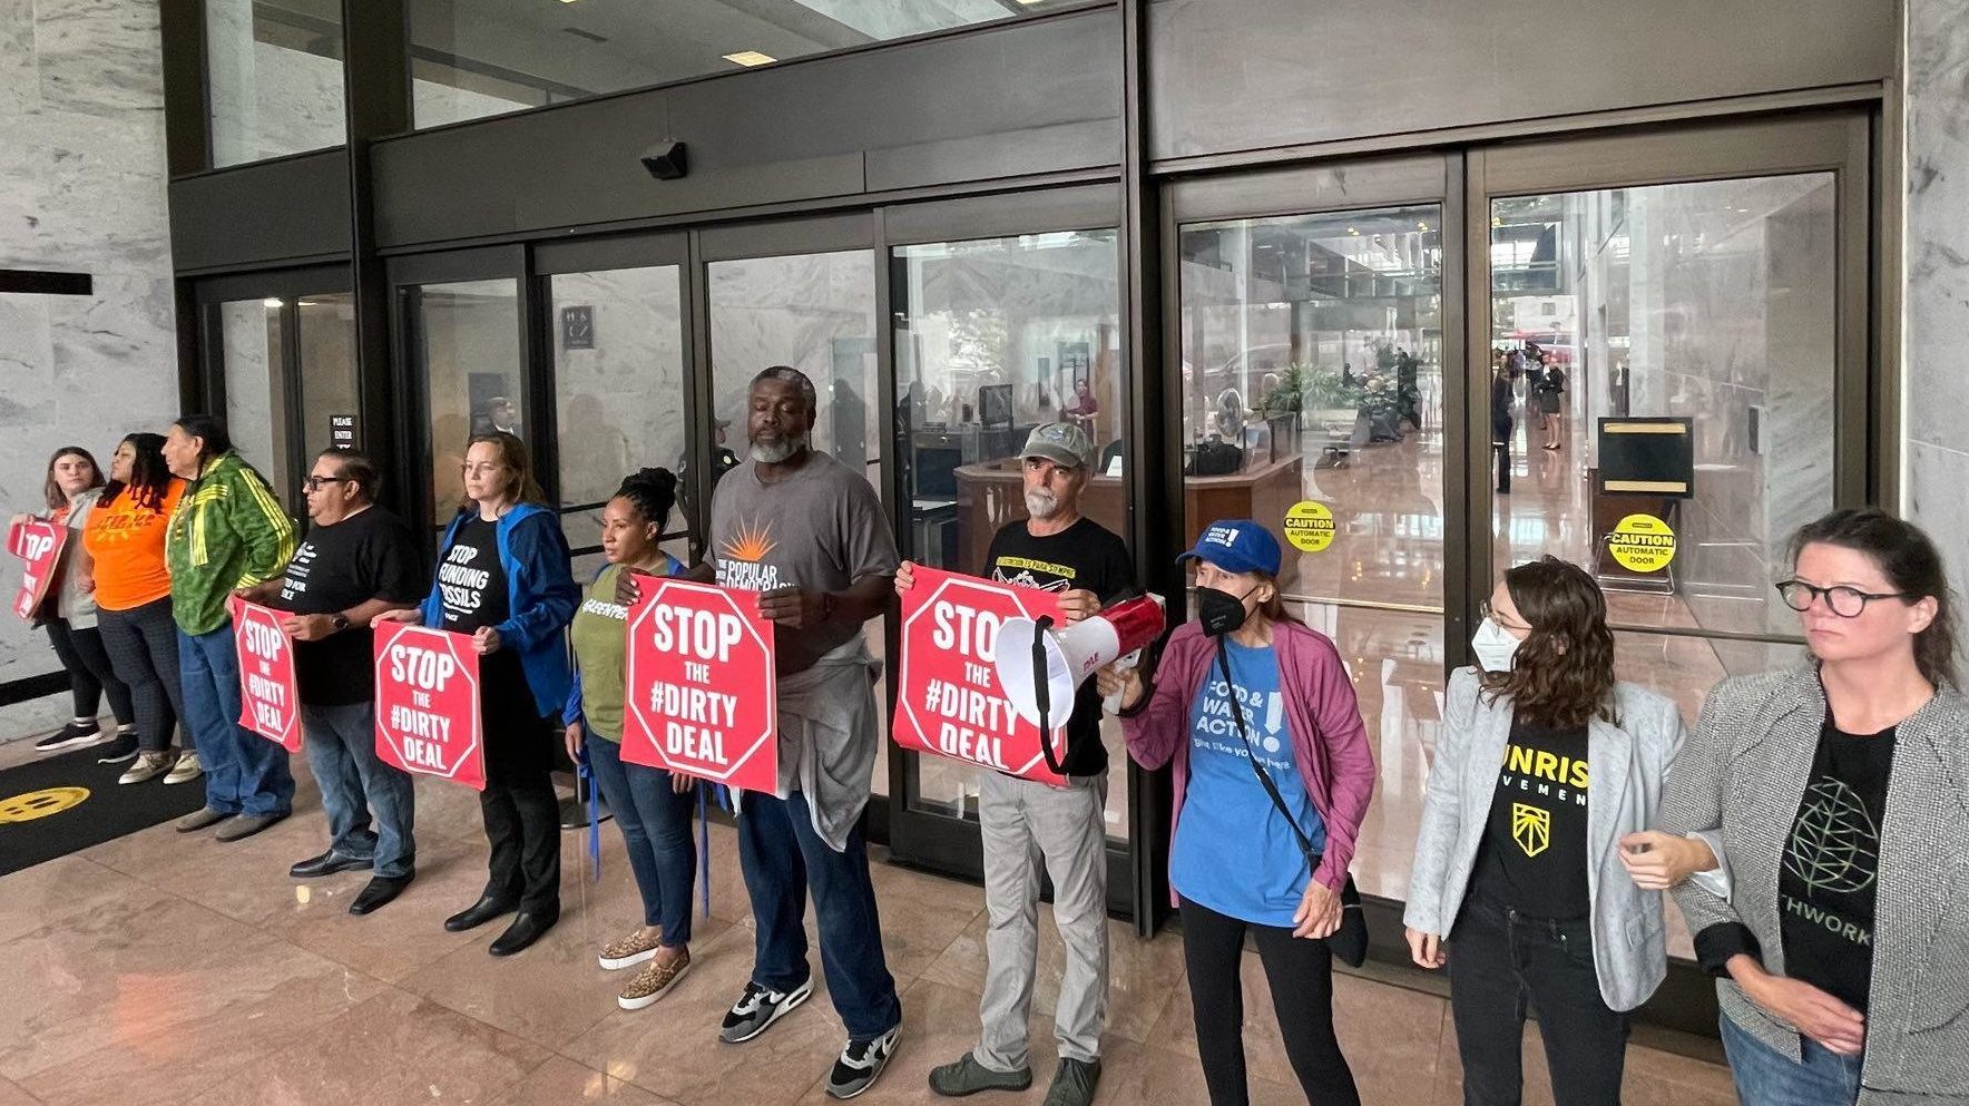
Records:
[[[1095,669],[1134,653],[1158,634],[1162,634],[1160,594],[1118,602],[1071,626],[1055,628],[1051,620],[1008,618],[998,626],[992,644],[998,687],[1020,718],[1040,726],[1042,732],[1057,730],[1067,724],[1067,714],[1073,714],[1073,693]],[[1046,718],[1040,718],[1042,710]],[[1048,768],[1059,771],[1053,766],[1051,742],[1042,744]]]

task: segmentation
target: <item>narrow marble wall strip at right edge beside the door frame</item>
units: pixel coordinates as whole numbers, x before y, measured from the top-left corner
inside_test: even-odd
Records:
[[[1969,581],[1969,0],[1908,0],[1902,510]]]

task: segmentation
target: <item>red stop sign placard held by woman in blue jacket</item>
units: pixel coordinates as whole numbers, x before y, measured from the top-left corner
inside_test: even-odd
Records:
[[[376,756],[486,789],[478,653],[469,634],[376,624]]]

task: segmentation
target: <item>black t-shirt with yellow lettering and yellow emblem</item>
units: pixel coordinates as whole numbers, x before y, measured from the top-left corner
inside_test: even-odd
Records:
[[[1510,726],[1491,821],[1477,848],[1477,893],[1532,917],[1593,913],[1587,884],[1587,728]]]

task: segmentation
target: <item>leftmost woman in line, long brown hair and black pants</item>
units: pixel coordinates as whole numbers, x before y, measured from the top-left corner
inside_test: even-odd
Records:
[[[47,644],[53,645],[63,671],[69,673],[69,699],[75,716],[53,734],[33,742],[33,752],[47,754],[104,740],[96,710],[102,708],[102,697],[108,695],[110,714],[116,716],[116,734],[110,738],[110,748],[102,750],[100,764],[120,764],[136,756],[136,708],[130,703],[128,685],[116,679],[110,655],[102,647],[89,549],[81,541],[89,516],[102,496],[102,484],[106,480],[96,468],[96,459],[79,445],[65,445],[47,459],[47,474],[43,476],[47,514],[18,514],[10,523],[20,525],[41,518],[69,531],[67,543],[61,547],[61,565],[55,569],[47,594],[41,596],[39,610],[33,612],[33,624],[47,630]]]

